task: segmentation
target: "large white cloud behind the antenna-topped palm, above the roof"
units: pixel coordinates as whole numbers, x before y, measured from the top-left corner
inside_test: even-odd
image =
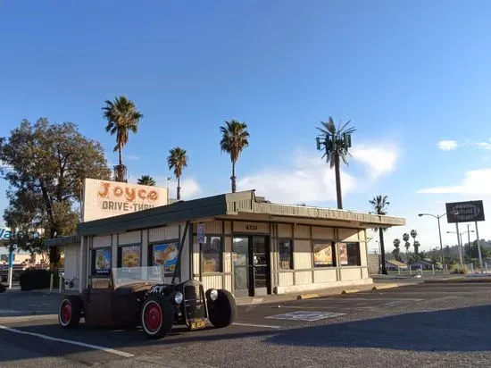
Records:
[[[394,169],[397,154],[385,148],[360,146],[352,151],[354,161],[362,163],[369,172],[369,179],[357,180],[341,171],[343,195],[353,192],[359,183],[375,180]],[[263,168],[262,171],[238,180],[237,189],[254,188],[259,196],[272,202],[297,204],[321,201],[336,201],[335,171],[319,156],[305,155],[302,151],[293,154],[289,168]]]

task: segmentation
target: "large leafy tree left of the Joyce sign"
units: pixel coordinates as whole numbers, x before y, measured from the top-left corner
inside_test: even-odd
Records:
[[[9,205],[4,211],[7,226],[43,230],[46,238],[76,230],[76,205],[85,178],[107,180],[111,175],[103,147],[83,137],[71,122],[21,121],[9,137],[0,139],[0,161],[12,168],[4,175],[9,183]],[[21,247],[37,247],[28,243]],[[50,262],[53,268],[59,266],[58,247],[50,248]]]

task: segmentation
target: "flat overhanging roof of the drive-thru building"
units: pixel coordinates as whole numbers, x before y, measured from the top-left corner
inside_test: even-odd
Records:
[[[179,201],[134,213],[81,222],[78,225],[78,235],[113,234],[208,219],[295,222],[360,229],[405,225],[405,219],[402,217],[304,205],[274,204],[264,200],[263,197],[256,197],[254,190],[247,190]]]

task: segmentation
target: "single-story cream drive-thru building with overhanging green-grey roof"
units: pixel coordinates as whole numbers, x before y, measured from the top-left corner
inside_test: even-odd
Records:
[[[179,201],[80,222],[65,251],[65,278],[82,290],[112,268],[162,265],[166,277],[202,280],[236,297],[370,284],[367,230],[404,226],[400,217],[280,205],[254,190]],[[198,242],[200,240],[201,242]]]

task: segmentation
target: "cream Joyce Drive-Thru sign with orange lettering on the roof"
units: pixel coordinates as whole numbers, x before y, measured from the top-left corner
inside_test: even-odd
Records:
[[[111,180],[85,180],[84,222],[146,210],[159,205],[167,205],[167,188]]]

